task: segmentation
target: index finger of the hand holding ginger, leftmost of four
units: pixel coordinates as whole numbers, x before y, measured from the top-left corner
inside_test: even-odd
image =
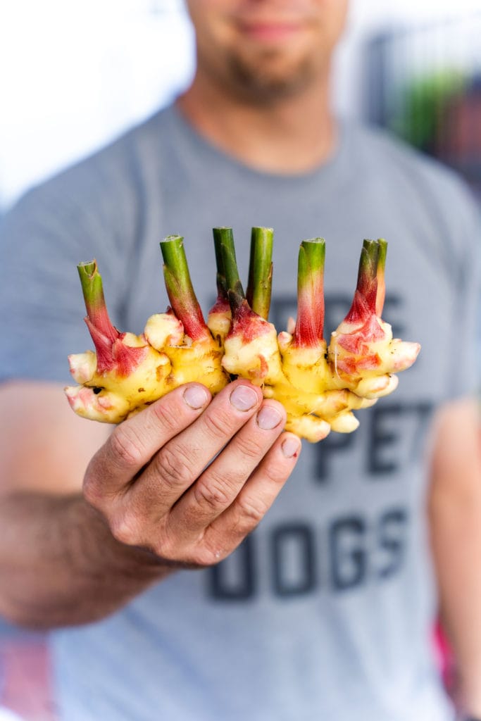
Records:
[[[118,425],[90,461],[84,479],[87,500],[102,505],[125,490],[161,446],[199,417],[210,399],[205,386],[187,384]]]

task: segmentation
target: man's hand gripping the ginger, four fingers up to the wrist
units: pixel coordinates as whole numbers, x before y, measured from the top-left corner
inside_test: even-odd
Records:
[[[188,384],[124,421],[89,464],[84,496],[112,535],[164,562],[206,566],[260,522],[299,456],[281,404],[234,381]]]

